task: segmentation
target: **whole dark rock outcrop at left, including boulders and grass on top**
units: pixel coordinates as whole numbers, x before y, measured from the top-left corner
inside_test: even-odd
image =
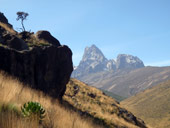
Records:
[[[14,35],[0,26],[0,70],[61,99],[73,71],[72,52],[47,31]]]

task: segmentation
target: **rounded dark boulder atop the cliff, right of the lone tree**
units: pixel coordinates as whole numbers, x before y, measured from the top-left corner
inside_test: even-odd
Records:
[[[54,38],[48,31],[38,31],[35,36],[39,40],[44,40],[52,45],[60,46],[60,42],[56,38]]]

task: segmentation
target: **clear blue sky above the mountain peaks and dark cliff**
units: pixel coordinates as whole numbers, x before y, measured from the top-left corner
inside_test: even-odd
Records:
[[[170,66],[170,0],[0,0],[14,29],[48,30],[73,52],[77,66],[95,44],[108,59],[138,56],[146,66]]]

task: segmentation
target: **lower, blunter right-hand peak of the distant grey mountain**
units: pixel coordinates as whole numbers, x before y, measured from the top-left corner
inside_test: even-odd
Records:
[[[143,62],[135,56],[119,54],[117,57],[117,69],[136,69],[144,67]]]

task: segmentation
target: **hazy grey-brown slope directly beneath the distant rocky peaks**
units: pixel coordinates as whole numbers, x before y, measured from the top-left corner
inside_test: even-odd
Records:
[[[170,79],[170,67],[144,67],[89,74],[80,80],[117,95],[129,97],[168,79]]]

